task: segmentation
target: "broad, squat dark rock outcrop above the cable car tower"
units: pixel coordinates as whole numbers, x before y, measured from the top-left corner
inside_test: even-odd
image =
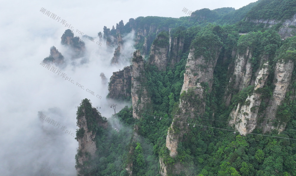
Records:
[[[108,85],[109,97],[117,100],[128,100],[131,98],[131,67],[113,72]]]

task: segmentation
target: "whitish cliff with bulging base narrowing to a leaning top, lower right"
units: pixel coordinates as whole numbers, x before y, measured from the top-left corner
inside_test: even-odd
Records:
[[[265,57],[264,60],[267,60]],[[258,73],[255,81],[255,88],[252,95],[249,95],[244,104],[238,103],[236,109],[230,113],[230,125],[234,125],[239,133],[245,135],[251,133],[257,124],[258,110],[261,103],[261,93],[256,92],[258,88],[263,88],[268,77],[268,62],[265,62]]]

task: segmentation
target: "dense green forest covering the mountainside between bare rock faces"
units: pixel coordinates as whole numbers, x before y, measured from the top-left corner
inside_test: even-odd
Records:
[[[183,39],[184,46],[176,54],[180,60],[174,64],[169,62],[164,70],[149,64],[149,56],[144,58],[144,77],[139,80],[150,101],[141,109],[126,106],[108,119],[109,124],[120,124],[120,128],[94,125],[97,119],[106,119],[99,112],[92,112],[90,100],[82,101],[77,119],[86,117],[88,130],[95,134],[96,152],[94,156],[85,154],[89,160],[81,165],[78,158],[82,153],[78,150],[79,175],[161,175],[160,159],[167,175],[296,175],[296,37],[284,40],[279,35],[281,23],[268,25],[246,20],[291,19],[296,14],[295,6],[295,0],[259,0],[237,10],[200,9],[191,17],[138,17],[126,25],[119,24],[121,34],[150,25],[170,28],[170,32],[152,33],[154,40],[147,43],[164,48],[170,44],[171,37]],[[111,30],[111,33],[115,32]],[[144,39],[139,37],[136,49],[144,50]],[[246,51],[251,54],[244,56]],[[202,98],[194,89],[182,91],[191,52],[195,58],[202,57],[205,65],[217,57],[211,83],[196,80],[204,90]],[[233,76],[240,56],[248,58],[251,68],[250,83],[244,87],[236,86],[239,78]],[[275,119],[265,122],[275,94],[279,63],[291,63],[292,73]],[[205,65],[198,68],[207,70]],[[256,88],[256,77],[265,67],[266,81]],[[144,91],[138,93],[141,95]],[[252,95],[259,95],[256,101],[260,101],[251,108],[258,117],[254,130],[244,135],[235,133],[236,126],[229,125],[231,113],[237,107],[249,106]],[[227,97],[231,97],[229,103]],[[204,107],[204,111],[183,112],[182,102],[188,107]],[[133,112],[140,118],[134,118]],[[242,114],[248,115],[245,113]],[[174,127],[172,122],[176,122]],[[263,123],[280,127],[263,131]],[[170,130],[182,134],[174,157],[166,146]],[[77,130],[77,139],[83,138],[84,133],[83,129]]]

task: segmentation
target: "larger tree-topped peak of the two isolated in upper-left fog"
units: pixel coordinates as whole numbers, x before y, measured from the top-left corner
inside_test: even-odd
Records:
[[[85,43],[79,37],[74,37],[70,29],[65,30],[61,37],[61,44],[70,47],[72,59],[82,57],[85,54]]]

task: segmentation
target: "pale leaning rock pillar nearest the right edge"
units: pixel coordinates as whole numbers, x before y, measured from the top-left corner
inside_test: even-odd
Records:
[[[269,101],[269,106],[266,109],[266,118],[263,120],[263,133],[275,129],[272,126],[273,120],[276,118],[276,110],[285,98],[287,88],[289,86],[291,75],[294,69],[294,62],[292,60],[279,60],[276,63],[274,71],[274,91],[272,98]],[[278,122],[280,123],[280,122]],[[283,124],[279,127],[279,131],[282,131],[286,125]]]

